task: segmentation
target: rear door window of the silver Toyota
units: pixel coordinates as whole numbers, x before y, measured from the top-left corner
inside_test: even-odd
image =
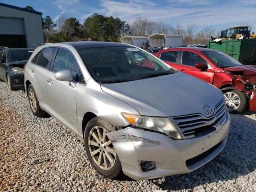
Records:
[[[44,50],[39,56],[37,64],[46,69],[50,69],[54,51],[55,51],[55,47],[44,48]]]

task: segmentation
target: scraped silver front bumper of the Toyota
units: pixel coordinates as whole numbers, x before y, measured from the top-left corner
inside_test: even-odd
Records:
[[[124,174],[135,180],[160,178],[192,172],[218,155],[224,148],[230,117],[216,131],[184,140],[160,133],[127,127],[110,132],[108,138],[122,164]],[[142,162],[153,162],[154,169],[142,170]]]

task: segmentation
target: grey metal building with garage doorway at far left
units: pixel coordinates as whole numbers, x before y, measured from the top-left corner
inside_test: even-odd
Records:
[[[35,48],[42,43],[42,13],[0,3],[0,46]]]

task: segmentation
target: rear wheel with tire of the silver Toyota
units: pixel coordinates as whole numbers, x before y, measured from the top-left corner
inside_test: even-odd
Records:
[[[39,106],[36,92],[32,84],[28,86],[28,102],[29,102],[31,111],[35,116],[42,117],[46,114],[46,112],[44,112]]]

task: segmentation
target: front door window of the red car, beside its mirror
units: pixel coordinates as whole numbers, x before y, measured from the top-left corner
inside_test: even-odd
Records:
[[[196,63],[205,63],[208,64],[206,60],[204,60],[201,56],[198,54],[183,51],[182,54],[182,65],[192,66],[194,67]]]

